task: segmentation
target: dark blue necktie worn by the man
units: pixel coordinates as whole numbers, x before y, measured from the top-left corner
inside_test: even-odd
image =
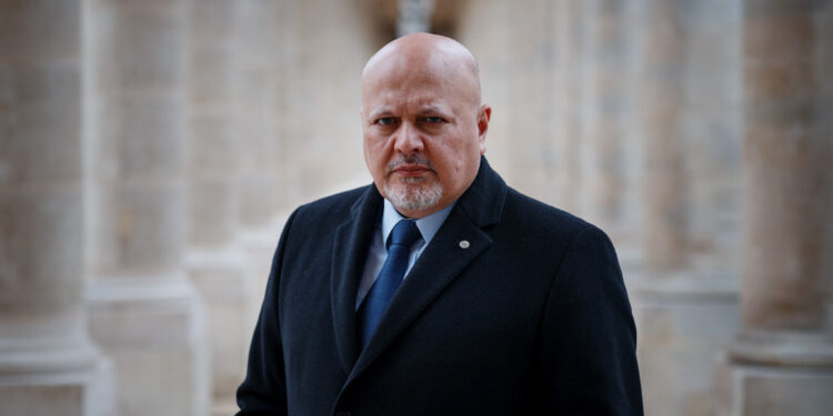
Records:
[[[411,254],[410,247],[420,236],[420,230],[416,229],[413,220],[402,220],[397,223],[388,237],[388,258],[357,313],[362,348],[368,345],[384,310],[388,308],[393,294],[405,277],[408,257]]]

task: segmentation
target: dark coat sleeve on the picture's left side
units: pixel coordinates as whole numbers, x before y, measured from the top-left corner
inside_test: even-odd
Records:
[[[295,213],[290,215],[272,257],[263,304],[249,348],[249,364],[238,387],[240,412],[237,416],[277,416],[287,414],[287,385],[279,318],[279,288],[283,252]]]

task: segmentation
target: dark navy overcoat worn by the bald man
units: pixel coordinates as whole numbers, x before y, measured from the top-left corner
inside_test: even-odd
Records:
[[[610,240],[508,187],[485,159],[360,351],[355,296],[381,202],[370,185],[290,216],[239,415],[642,414]]]

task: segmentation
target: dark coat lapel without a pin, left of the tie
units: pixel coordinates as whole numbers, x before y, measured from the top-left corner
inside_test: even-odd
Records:
[[[353,204],[350,215],[335,230],[330,272],[330,300],[335,344],[344,374],[350,374],[359,356],[355,335],[355,295],[364,260],[375,229],[382,196],[374,185]]]

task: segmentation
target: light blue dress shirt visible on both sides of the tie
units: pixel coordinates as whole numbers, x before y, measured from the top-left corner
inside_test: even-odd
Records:
[[[408,278],[408,273],[411,271],[413,264],[416,263],[416,258],[419,258],[428,246],[428,243],[431,242],[440,230],[440,226],[445,222],[445,219],[449,216],[449,213],[451,212],[451,209],[454,207],[455,203],[456,201],[431,215],[416,220],[416,229],[420,230],[422,239],[416,239],[413,245],[411,245],[411,255],[408,257],[408,270],[405,271],[404,278]],[[364,300],[364,296],[370,292],[370,287],[373,286],[373,282],[377,281],[379,273],[382,272],[384,261],[388,258],[388,247],[385,247],[384,242],[388,241],[391,231],[393,231],[393,227],[401,220],[405,220],[405,217],[393,207],[393,204],[391,204],[390,201],[384,200],[382,221],[377,222],[375,230],[373,230],[370,250],[368,251],[368,258],[364,261],[364,272],[359,282],[359,293],[355,296],[357,311]]]

